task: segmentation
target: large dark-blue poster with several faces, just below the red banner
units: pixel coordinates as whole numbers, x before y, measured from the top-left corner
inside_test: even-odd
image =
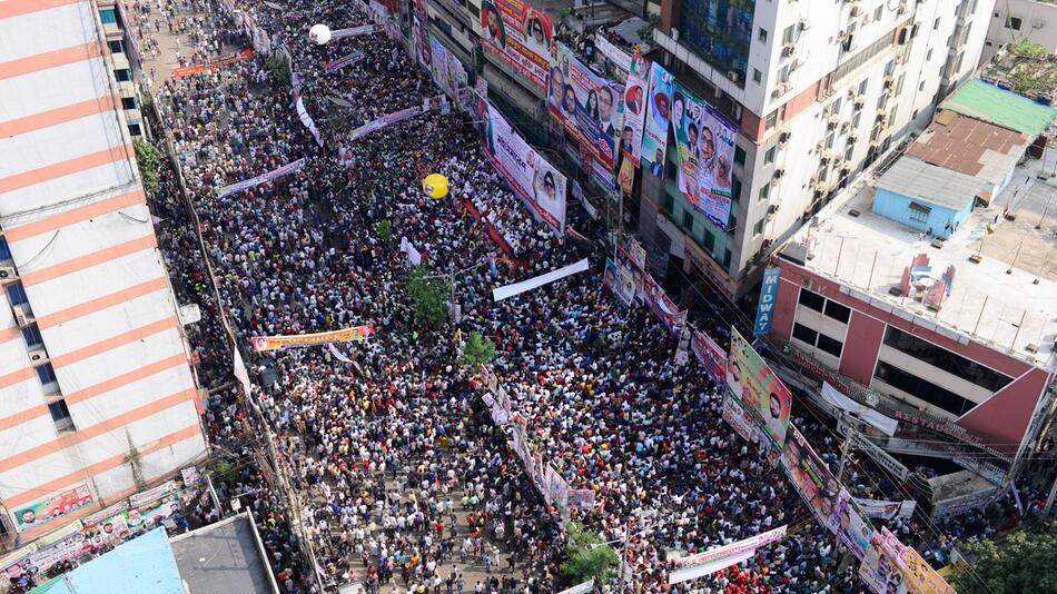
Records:
[[[562,43],[551,62],[547,108],[551,116],[591,156],[612,170],[616,166],[620,85],[595,75]]]

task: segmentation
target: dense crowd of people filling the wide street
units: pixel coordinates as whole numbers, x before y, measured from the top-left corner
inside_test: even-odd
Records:
[[[603,230],[571,205],[570,221],[586,241],[555,237],[504,186],[473,122],[455,109],[349,140],[350,130],[439,91],[385,33],[308,42],[317,22],[371,22],[357,2],[289,4],[139,8],[144,22],[192,27],[187,63],[239,40],[233,7],[249,14],[274,50],[289,52],[293,82],[323,136],[319,146],[290,87],[260,56],[154,87],[198,216],[188,218],[177,172],[167,169],[151,208],[180,303],[204,307],[190,339],[202,383],[216,388],[205,422],[230,471],[220,498],[237,496],[253,509],[285,592],[315,591],[316,572],[325,583],[359,581],[374,592],[556,592],[570,585],[560,571],[570,522],[618,550],[626,542],[641,592],[860,591],[858,564],[842,562],[842,545],[813,522],[782,471],[722,419],[722,387],[692,360],[676,363],[678,337],[648,309],[626,309],[603,289]],[[151,28],[142,29],[149,37]],[[324,72],[355,52],[363,58]],[[303,158],[300,170],[273,182],[218,191]],[[421,181],[432,172],[448,177],[450,197],[424,195]],[[389,232],[379,231],[383,221]],[[197,231],[219,303],[196,258]],[[415,315],[404,285],[405,240],[452,285],[458,324]],[[496,286],[583,257],[587,273],[492,300]],[[698,314],[699,326],[723,337],[729,320]],[[230,379],[221,316],[260,372],[263,387],[248,399]],[[364,343],[248,359],[254,336],[365,324],[375,334]],[[527,419],[532,446],[571,488],[592,489],[594,507],[561,514],[532,486],[481,399],[476,369],[461,358],[472,333],[496,345],[493,372]],[[275,467],[255,407],[279,435]],[[793,423],[836,465],[836,435],[810,412],[801,416]],[[890,492],[891,484],[870,478],[868,464],[852,465],[849,488],[863,497]],[[277,473],[288,477],[297,508],[284,506]],[[300,560],[297,522],[315,566]],[[704,551],[781,525],[790,535],[744,564],[666,585],[673,551]],[[929,546],[945,538],[952,546],[989,525],[968,521],[933,535],[890,523],[908,544]]]

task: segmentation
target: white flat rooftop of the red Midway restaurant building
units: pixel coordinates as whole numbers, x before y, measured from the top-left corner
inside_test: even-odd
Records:
[[[1009,186],[986,209],[974,210],[941,248],[922,239],[919,231],[872,214],[875,189],[866,184],[800,229],[783,251],[799,261],[797,253],[806,247],[803,266],[848,286],[852,297],[901,311],[898,315],[908,319],[912,316],[915,324],[952,339],[987,344],[1054,370],[1057,178],[1048,172],[1057,166],[1055,152],[1048,150],[1044,159],[1018,167]],[[1001,217],[1007,204],[1016,220]],[[998,222],[989,232],[996,217]],[[918,254],[929,256],[936,277],[948,265],[955,266],[952,291],[938,311],[913,298],[889,294]],[[969,261],[976,254],[982,256],[980,264]]]

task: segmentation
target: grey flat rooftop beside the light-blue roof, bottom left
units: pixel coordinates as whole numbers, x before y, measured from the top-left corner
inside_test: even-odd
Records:
[[[276,592],[245,514],[174,536],[172,553],[194,594]]]

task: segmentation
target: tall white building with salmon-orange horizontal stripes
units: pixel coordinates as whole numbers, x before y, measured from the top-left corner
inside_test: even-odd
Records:
[[[0,524],[10,544],[206,455],[99,8],[0,3]]]

